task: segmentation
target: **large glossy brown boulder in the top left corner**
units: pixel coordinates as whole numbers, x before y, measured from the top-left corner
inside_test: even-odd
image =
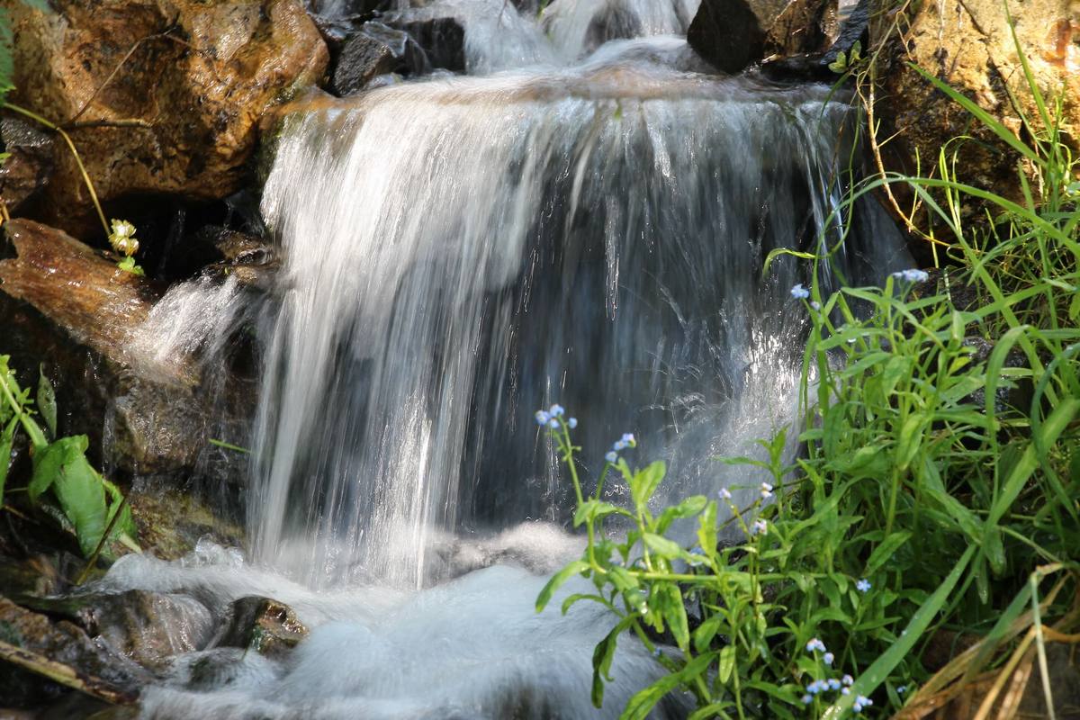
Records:
[[[13,3],[13,103],[65,126],[98,195],[224,198],[241,187],[259,118],[323,76],[299,0]],[[114,74],[113,74],[114,73]],[[76,159],[55,144],[43,219],[87,227]]]

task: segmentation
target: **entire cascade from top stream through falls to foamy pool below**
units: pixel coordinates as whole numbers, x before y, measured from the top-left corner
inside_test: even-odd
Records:
[[[105,582],[212,611],[271,595],[315,629],[285,665],[179,660],[150,715],[615,717],[658,676],[621,643],[594,710],[591,649],[611,623],[532,613],[543,573],[580,552],[558,529],[570,493],[534,410],[570,407],[586,470],[631,431],[632,460],[669,463],[662,500],[712,493],[726,481],[712,457],[795,418],[806,328],[788,290],[805,277],[789,258],[764,275],[769,252],[827,243],[829,271],[855,280],[902,258],[872,202],[850,227],[833,214],[851,147],[827,87],[696,74],[674,37],[554,67],[602,11],[619,10],[615,35],[683,30],[692,14],[645,4],[559,0],[554,41],[523,53],[543,65],[293,118],[262,205],[284,270],[254,432],[255,567],[204,547],[198,567],[124,558]],[[477,30],[470,68],[548,42],[514,17],[521,33]],[[526,569],[438,584],[498,562]],[[200,663],[217,663],[216,682]],[[675,698],[657,717],[683,711]]]

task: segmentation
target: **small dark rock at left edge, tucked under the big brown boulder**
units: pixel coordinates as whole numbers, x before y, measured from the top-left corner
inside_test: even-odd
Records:
[[[0,198],[18,214],[45,186],[53,172],[53,137],[19,118],[0,118]]]

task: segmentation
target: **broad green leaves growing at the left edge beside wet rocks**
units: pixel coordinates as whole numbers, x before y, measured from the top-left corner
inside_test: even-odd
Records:
[[[56,437],[55,393],[44,372],[40,373],[35,402],[29,388],[23,389],[16,381],[9,356],[0,355],[0,501],[15,434],[22,427],[33,459],[33,472],[26,488],[30,503],[39,505],[44,498],[54,500],[87,558],[102,552],[106,535],[137,551],[131,508],[120,489],[86,460],[86,436]]]

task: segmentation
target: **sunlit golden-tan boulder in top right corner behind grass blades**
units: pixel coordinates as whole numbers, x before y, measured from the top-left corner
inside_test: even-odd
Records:
[[[1063,100],[1062,130],[1076,147],[1080,137],[1080,35],[1076,33],[1080,5],[1070,0],[1027,0],[1009,3],[1009,11],[1016,41],[1043,96]],[[949,146],[950,151],[959,151],[961,179],[1018,198],[1016,153],[909,65],[966,95],[1017,137],[1025,138],[1027,131],[1012,98],[1034,127],[1042,128],[1001,0],[923,2],[908,12],[901,25],[906,31],[886,40],[883,57],[891,62],[879,76],[877,114],[887,123],[879,134],[895,133],[886,148],[888,169],[915,174],[918,159],[921,172],[927,173],[936,166],[945,144],[971,136]],[[890,19],[882,18],[882,25]],[[878,35],[885,35],[883,28]],[[977,212],[974,205],[970,209]]]

